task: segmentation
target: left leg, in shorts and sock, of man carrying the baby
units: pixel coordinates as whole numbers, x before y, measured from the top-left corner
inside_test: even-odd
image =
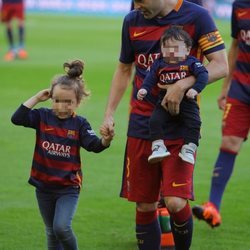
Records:
[[[161,240],[157,218],[161,167],[148,163],[150,152],[151,141],[128,138],[120,195],[136,202],[136,237],[140,250],[159,250]]]

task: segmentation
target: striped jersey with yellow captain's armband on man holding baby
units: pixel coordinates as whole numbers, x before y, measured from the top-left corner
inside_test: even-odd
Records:
[[[179,0],[174,10],[163,18],[145,19],[140,11],[129,12],[123,22],[120,62],[135,64],[135,76],[131,96],[131,112],[128,136],[149,139],[149,117],[154,104],[139,101],[138,89],[155,59],[160,57],[160,37],[168,27],[183,27],[193,39],[190,55],[200,61],[208,55],[225,48],[224,42],[208,11],[193,3]],[[181,124],[168,124],[166,139],[182,137]]]

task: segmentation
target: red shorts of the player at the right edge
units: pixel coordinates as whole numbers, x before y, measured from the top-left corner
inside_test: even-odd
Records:
[[[222,135],[246,139],[249,129],[250,105],[233,98],[227,98],[222,121]]]

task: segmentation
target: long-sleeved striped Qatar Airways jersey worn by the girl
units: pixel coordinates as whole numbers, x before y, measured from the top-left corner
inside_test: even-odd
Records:
[[[80,187],[80,148],[96,153],[106,149],[88,121],[77,115],[59,119],[51,109],[31,110],[21,105],[12,122],[36,130],[29,183],[40,189]]]

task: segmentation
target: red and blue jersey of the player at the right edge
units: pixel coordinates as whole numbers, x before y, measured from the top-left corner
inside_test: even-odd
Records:
[[[229,97],[250,104],[250,1],[233,3],[232,37],[238,41],[238,54]]]

